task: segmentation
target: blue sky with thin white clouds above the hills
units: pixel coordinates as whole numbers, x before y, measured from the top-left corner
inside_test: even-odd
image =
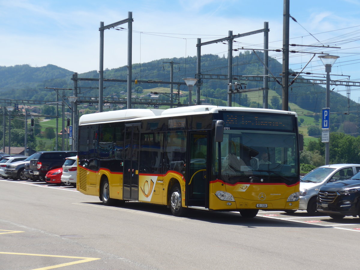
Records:
[[[264,21],[269,22],[270,48],[282,47],[283,0],[0,0],[0,65],[54,64],[78,73],[98,70],[100,22],[107,25],[126,19],[129,11],[134,18],[133,63],[195,56],[197,38],[207,41],[227,36],[229,30],[237,34],[262,29]],[[290,43],[319,44],[319,40],[341,47],[297,50],[339,55],[332,74],[360,81],[359,0],[290,0],[290,14],[298,22],[290,22]],[[110,29],[104,36],[104,68],[125,66],[127,32]],[[262,48],[263,35],[236,41],[234,48]],[[202,54],[222,56],[226,51],[224,44],[202,47]],[[282,61],[281,53],[270,56]],[[310,58],[310,54],[293,54],[290,67],[300,71]],[[304,71],[324,73],[324,68],[315,57]],[[335,91],[346,95],[344,88]],[[357,102],[359,96],[360,89],[353,87],[351,99]]]

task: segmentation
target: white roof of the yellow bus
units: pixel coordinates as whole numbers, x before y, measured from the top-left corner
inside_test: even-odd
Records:
[[[267,112],[267,113],[283,113],[294,114],[296,112],[280,111],[262,108],[247,107],[223,107],[215,105],[194,105],[186,107],[178,107],[171,109],[125,109],[118,111],[109,111],[101,113],[84,114],[79,119],[79,125],[87,125],[91,123],[115,122],[119,120],[136,119],[136,118],[154,118],[161,116],[184,116],[193,114],[217,113],[219,111],[238,111],[238,112]]]

